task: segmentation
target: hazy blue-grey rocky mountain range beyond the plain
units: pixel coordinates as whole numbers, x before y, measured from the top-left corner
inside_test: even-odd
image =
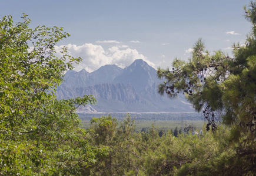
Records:
[[[71,99],[84,94],[92,94],[96,105],[81,107],[78,112],[192,112],[191,104],[179,94],[171,100],[157,93],[162,80],[157,71],[142,59],[135,60],[124,69],[116,65],[105,65],[94,72],[82,69],[69,70],[64,82],[57,87],[58,99]]]

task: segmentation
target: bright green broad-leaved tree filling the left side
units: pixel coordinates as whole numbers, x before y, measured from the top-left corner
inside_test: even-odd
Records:
[[[57,100],[64,72],[81,58],[55,57],[63,28],[29,28],[30,19],[0,21],[0,175],[75,175],[95,162],[97,148],[75,110],[92,96]],[[102,151],[104,153],[104,151]]]

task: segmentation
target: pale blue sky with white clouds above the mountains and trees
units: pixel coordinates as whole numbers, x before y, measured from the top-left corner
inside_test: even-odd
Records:
[[[187,60],[202,38],[210,53],[221,49],[232,56],[232,43],[245,42],[251,30],[242,6],[249,0],[77,0],[2,1],[1,18],[22,13],[39,25],[64,27],[71,36],[56,46],[83,61],[75,70],[93,72],[107,64],[124,68],[135,59],[149,65],[171,67]],[[57,53],[58,55],[58,53]]]

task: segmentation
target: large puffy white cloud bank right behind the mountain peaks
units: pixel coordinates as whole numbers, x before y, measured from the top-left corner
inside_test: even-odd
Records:
[[[55,46],[56,56],[61,56],[61,48],[63,46]],[[85,43],[84,45],[67,45],[68,54],[73,57],[81,57],[83,60],[79,65],[74,65],[76,71],[85,69],[88,72],[93,72],[104,65],[117,65],[124,68],[131,65],[135,59],[143,59],[148,65],[155,67],[155,64],[150,62],[147,57],[139,53],[136,49],[120,46],[110,46],[104,49],[101,45],[93,45]]]

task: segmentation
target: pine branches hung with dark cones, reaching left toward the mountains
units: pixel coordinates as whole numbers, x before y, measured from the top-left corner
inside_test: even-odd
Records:
[[[193,49],[188,62],[175,59],[172,70],[158,69],[158,77],[165,79],[164,83],[159,84],[158,90],[171,98],[184,93],[195,110],[204,109],[205,117],[214,129],[217,127],[217,115],[224,109],[220,82],[226,79],[228,63],[232,59],[221,51],[210,56],[201,39]]]

